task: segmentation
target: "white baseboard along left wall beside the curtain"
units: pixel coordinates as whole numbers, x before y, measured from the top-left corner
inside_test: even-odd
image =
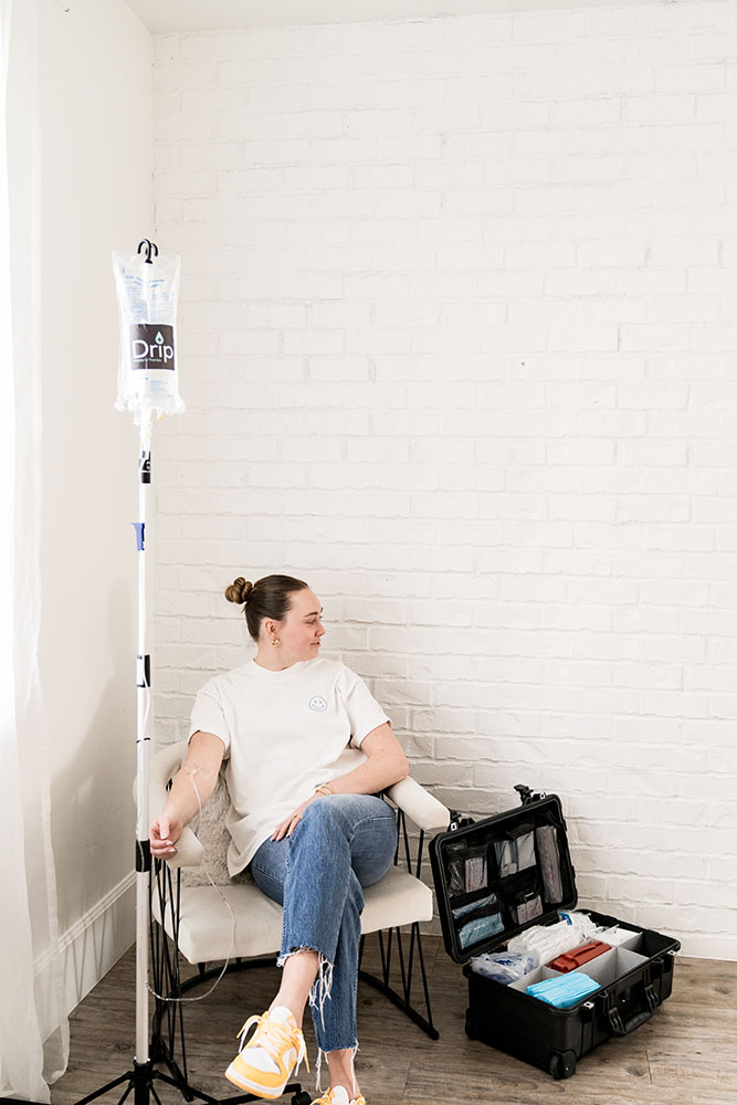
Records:
[[[136,875],[122,878],[80,919],[62,933],[59,955],[63,972],[64,1008],[71,1013],[117,962],[136,938]],[[52,955],[35,961],[36,991],[53,992]],[[48,981],[42,977],[48,975]],[[43,1012],[39,1010],[43,1020]]]

